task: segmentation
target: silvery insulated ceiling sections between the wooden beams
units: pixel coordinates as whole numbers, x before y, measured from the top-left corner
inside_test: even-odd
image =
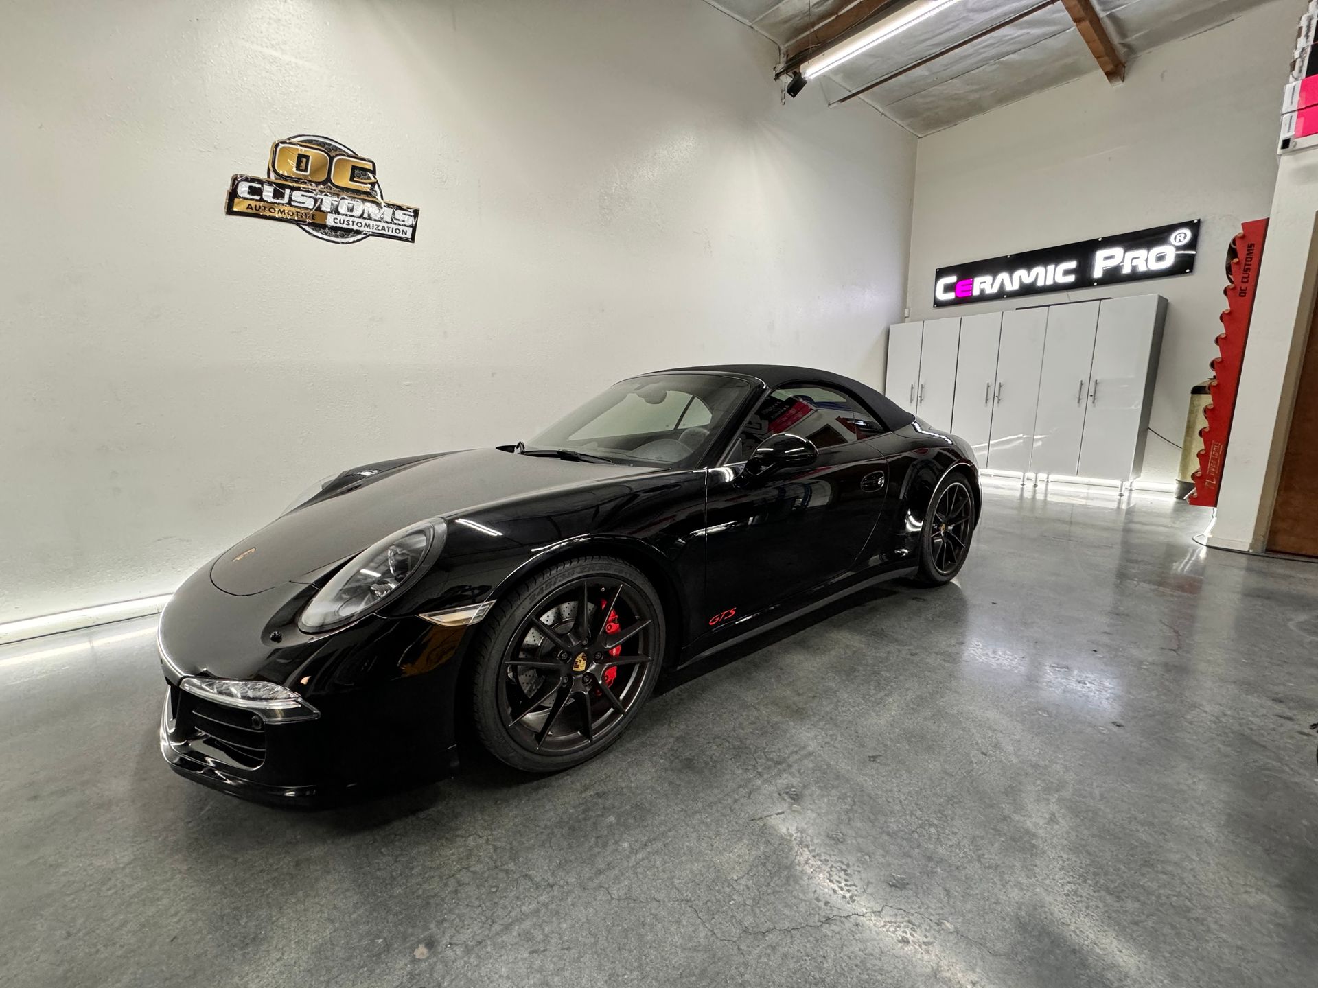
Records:
[[[863,0],[862,0],[863,1]],[[830,101],[1036,7],[1040,0],[961,0],[830,70]],[[1268,0],[1093,0],[1127,62],[1169,41],[1217,28]],[[826,30],[857,0],[709,0],[714,7],[799,51],[808,34]],[[925,136],[994,107],[1060,86],[1098,63],[1062,3],[1054,3],[892,82],[862,99],[911,132]]]

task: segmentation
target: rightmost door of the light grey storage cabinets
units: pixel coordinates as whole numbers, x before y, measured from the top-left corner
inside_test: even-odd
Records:
[[[1156,366],[1157,295],[1106,299],[1098,312],[1089,412],[1079,452],[1085,477],[1128,481],[1148,423],[1145,400]]]

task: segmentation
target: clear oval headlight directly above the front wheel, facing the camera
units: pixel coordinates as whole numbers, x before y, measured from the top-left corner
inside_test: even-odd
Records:
[[[422,564],[444,547],[443,518],[402,528],[351,560],[311,598],[298,618],[308,635],[341,628],[378,610],[422,573]]]

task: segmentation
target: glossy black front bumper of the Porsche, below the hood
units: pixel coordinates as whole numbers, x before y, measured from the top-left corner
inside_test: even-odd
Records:
[[[169,684],[159,742],[170,767],[221,792],[283,805],[451,772],[468,627],[372,615],[307,638],[295,631],[299,593],[236,597],[204,570],[175,593],[159,624]],[[188,677],[283,685],[319,717],[287,721],[219,703],[181,689]]]

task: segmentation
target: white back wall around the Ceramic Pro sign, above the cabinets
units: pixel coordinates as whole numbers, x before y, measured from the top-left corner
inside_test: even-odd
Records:
[[[1193,275],[981,303],[938,315],[1157,292],[1168,299],[1151,427],[1177,443],[1222,327],[1227,244],[1268,215],[1281,87],[1304,0],[1276,0],[1145,53],[1122,86],[1094,72],[919,144],[909,307],[933,315],[938,266],[1202,217]],[[1264,260],[1267,278],[1267,254]],[[1144,477],[1180,451],[1149,437]]]

